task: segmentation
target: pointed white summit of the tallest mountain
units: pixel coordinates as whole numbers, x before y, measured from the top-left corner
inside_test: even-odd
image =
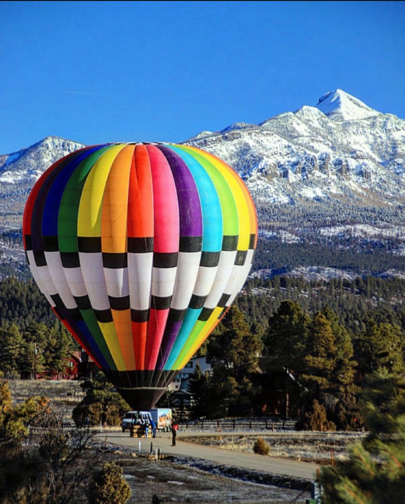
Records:
[[[325,93],[319,98],[317,107],[329,119],[335,121],[358,121],[379,115],[377,110],[368,107],[363,101],[341,89]]]

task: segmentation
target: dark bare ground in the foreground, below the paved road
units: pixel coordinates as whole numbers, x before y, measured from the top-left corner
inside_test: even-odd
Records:
[[[103,461],[122,467],[132,491],[128,504],[303,504],[310,497],[308,481],[183,455],[161,455],[158,460],[156,454],[134,448],[109,440],[98,447]]]

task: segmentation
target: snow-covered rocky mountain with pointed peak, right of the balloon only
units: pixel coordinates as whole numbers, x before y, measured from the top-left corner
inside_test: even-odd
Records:
[[[210,151],[246,181],[259,208],[405,200],[405,121],[338,89],[316,106],[237,123],[184,142]]]

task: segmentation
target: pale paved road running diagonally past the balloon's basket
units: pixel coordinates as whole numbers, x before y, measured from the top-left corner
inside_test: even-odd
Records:
[[[209,434],[208,432],[205,434]],[[236,433],[242,434],[242,433]],[[263,457],[255,453],[235,452],[215,446],[193,444],[185,441],[187,436],[195,433],[178,432],[176,446],[171,446],[170,433],[158,433],[156,438],[131,437],[128,432],[106,431],[97,433],[108,444],[133,447],[134,452],[150,453],[150,443],[153,453],[159,449],[162,455],[177,455],[215,462],[219,465],[236,466],[243,469],[262,471],[272,475],[284,475],[315,481],[317,466],[309,462],[299,462],[276,457]]]

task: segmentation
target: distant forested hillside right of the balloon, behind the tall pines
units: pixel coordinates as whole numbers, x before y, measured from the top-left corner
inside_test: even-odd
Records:
[[[291,300],[309,314],[333,310],[339,322],[358,334],[367,321],[397,324],[405,331],[405,279],[356,277],[308,282],[302,277],[253,278],[236,298],[236,305],[251,322],[268,325],[281,302]]]

